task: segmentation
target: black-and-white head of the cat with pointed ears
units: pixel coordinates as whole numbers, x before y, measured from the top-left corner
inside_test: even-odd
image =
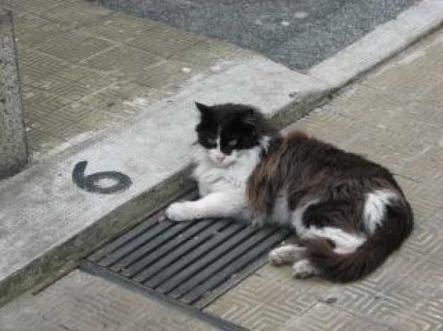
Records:
[[[200,111],[200,123],[195,131],[198,143],[218,167],[236,162],[245,151],[262,145],[277,134],[263,114],[243,104],[216,104],[207,106],[195,103]]]

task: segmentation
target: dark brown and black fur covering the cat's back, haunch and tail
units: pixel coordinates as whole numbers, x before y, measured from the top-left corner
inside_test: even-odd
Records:
[[[387,207],[382,226],[369,233],[362,219],[367,193],[389,190],[398,200]],[[275,140],[250,178],[246,195],[255,215],[272,215],[277,197],[289,211],[316,200],[303,215],[305,227],[337,227],[368,240],[352,254],[338,254],[327,239],[306,239],[311,262],[339,282],[367,275],[410,234],[413,215],[389,170],[359,155],[298,131]]]

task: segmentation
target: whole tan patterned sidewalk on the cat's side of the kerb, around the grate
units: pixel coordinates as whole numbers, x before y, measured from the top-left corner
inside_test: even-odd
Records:
[[[290,267],[267,265],[207,312],[249,330],[442,330],[442,54],[439,30],[292,126],[396,174],[416,224],[401,250],[347,285],[296,280]],[[0,325],[1,331],[214,329],[78,270],[1,308]]]

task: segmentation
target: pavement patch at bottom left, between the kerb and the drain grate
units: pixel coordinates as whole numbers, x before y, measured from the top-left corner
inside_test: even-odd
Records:
[[[1,331],[209,331],[207,323],[103,279],[74,271],[38,296],[0,310]]]

